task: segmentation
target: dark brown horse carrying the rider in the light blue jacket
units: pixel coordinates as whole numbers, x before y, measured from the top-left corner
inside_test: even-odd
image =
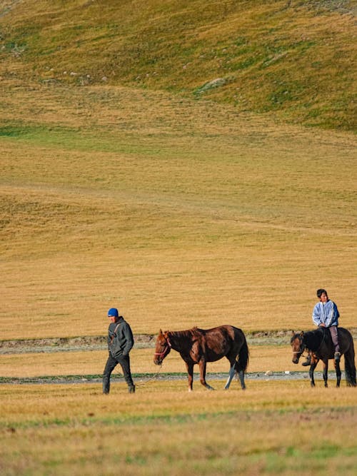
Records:
[[[341,355],[345,355],[345,373],[346,382],[349,387],[356,387],[356,366],[355,366],[355,350],[353,338],[347,329],[338,328],[338,342],[340,344]],[[291,347],[293,348],[293,363],[297,364],[305,349],[311,350],[313,353],[311,366],[309,370],[311,387],[315,386],[313,380],[313,371],[318,364],[318,360],[323,361],[323,380],[327,387],[327,371],[328,359],[334,358],[335,349],[333,347],[330,331],[326,328],[318,328],[310,330],[306,333],[294,333],[291,337]],[[333,360],[336,368],[337,383],[340,386],[341,369],[340,363]]]

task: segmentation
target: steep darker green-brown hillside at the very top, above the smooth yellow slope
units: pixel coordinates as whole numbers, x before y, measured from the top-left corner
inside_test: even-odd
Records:
[[[356,1],[0,1],[0,76],[356,127]]]

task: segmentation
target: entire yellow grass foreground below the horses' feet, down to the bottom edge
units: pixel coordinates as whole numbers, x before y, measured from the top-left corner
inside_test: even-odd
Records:
[[[0,463],[6,475],[352,476],[355,393],[302,382],[191,394],[163,382],[135,395],[1,385]]]

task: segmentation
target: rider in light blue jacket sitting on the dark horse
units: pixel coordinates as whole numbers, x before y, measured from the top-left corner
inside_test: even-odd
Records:
[[[328,299],[328,294],[325,289],[318,289],[317,297],[320,300],[313,308],[313,323],[321,328],[328,328],[331,333],[333,345],[335,347],[335,361],[339,362],[341,358],[340,346],[338,345],[338,313],[337,305]],[[302,365],[311,365],[311,353],[308,353],[306,362]]]

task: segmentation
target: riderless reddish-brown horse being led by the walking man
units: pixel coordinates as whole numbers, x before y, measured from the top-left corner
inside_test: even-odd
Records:
[[[206,383],[206,364],[223,357],[226,357],[231,364],[224,388],[228,390],[235,373],[239,375],[241,388],[246,388],[244,373],[248,366],[249,352],[246,336],[241,329],[234,328],[233,325],[220,325],[208,330],[196,327],[176,332],[166,330],[163,333],[160,330],[156,339],[154,363],[161,365],[166,355],[169,355],[171,348],[176,350],[186,363],[189,392],[192,391],[193,365],[199,365],[201,384],[208,390],[213,390],[211,385]]]

